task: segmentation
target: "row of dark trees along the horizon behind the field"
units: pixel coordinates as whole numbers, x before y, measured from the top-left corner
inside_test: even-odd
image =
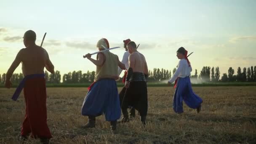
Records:
[[[148,73],[148,81],[160,81],[160,80],[168,80],[171,76],[176,72],[176,68],[172,71],[168,69],[159,69],[154,68],[153,70],[149,70]],[[73,71],[67,74],[64,74],[61,77],[60,71],[55,71],[54,74],[49,74],[45,71],[45,81],[46,83],[91,83],[94,80],[96,72],[95,71],[87,71],[83,73],[82,71]],[[0,74],[0,83],[5,82],[6,74]],[[12,83],[20,83],[24,76],[19,73],[14,73],[11,77]],[[232,67],[229,67],[227,73],[223,73],[220,77],[219,67],[203,67],[200,71],[200,74],[197,74],[197,69],[195,69],[195,75],[191,75],[191,78],[194,80],[202,81],[202,82],[256,82],[256,66],[244,67],[243,72],[240,67],[237,68],[237,74],[235,74],[235,70]],[[120,78],[119,81],[122,81]]]

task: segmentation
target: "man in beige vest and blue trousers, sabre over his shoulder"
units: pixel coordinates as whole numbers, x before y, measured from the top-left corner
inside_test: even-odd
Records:
[[[97,45],[99,51],[109,48],[107,39],[102,38]],[[118,80],[117,68],[125,69],[125,65],[119,61],[117,55],[110,51],[98,53],[97,59],[92,59],[91,54],[85,55],[96,65],[94,83],[88,88],[85,96],[82,115],[88,116],[85,128],[94,128],[97,116],[105,115],[105,120],[110,122],[111,131],[115,131],[117,120],[121,116],[120,100],[117,90]]]

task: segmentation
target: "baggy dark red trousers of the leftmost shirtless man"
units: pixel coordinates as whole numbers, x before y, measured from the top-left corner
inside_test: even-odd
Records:
[[[32,138],[52,138],[47,125],[45,79],[28,79],[24,86],[26,115],[22,124],[21,135],[31,133]]]

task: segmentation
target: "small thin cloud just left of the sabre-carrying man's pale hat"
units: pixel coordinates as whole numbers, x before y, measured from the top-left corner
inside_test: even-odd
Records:
[[[96,45],[92,45],[84,41],[70,41],[66,42],[67,47],[78,48],[78,49],[96,49]]]

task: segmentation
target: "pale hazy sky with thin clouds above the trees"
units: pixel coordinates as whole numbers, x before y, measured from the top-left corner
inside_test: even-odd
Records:
[[[173,69],[183,46],[192,75],[203,66],[256,65],[256,0],[1,0],[0,74],[7,72],[29,29],[37,33],[61,75],[96,70],[86,53],[98,51],[107,38],[110,47],[123,47],[130,38],[153,68]],[[123,57],[124,48],[112,50]],[[93,56],[95,58],[96,56]],[[21,72],[21,64],[14,73]]]

